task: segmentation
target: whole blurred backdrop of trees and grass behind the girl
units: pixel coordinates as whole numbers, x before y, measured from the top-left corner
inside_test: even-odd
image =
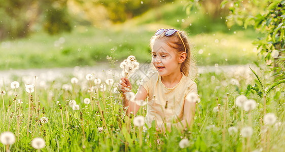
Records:
[[[262,34],[230,16],[236,4],[221,3],[0,0],[0,70],[98,66],[107,56],[120,62],[134,55],[146,63],[160,28],[186,31],[198,65],[258,61],[252,43]]]

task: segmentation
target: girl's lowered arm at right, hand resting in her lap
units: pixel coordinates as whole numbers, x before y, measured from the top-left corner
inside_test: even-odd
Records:
[[[187,127],[187,125],[192,125],[193,120],[194,120],[194,115],[195,115],[195,108],[196,108],[196,103],[195,102],[189,102],[187,100],[184,101],[184,117],[183,120],[179,123],[172,124],[176,128],[179,128],[183,130],[184,128]],[[168,131],[171,131],[171,124],[167,123],[166,128]],[[157,131],[163,131],[165,132],[165,125],[162,124],[161,127],[156,128]]]

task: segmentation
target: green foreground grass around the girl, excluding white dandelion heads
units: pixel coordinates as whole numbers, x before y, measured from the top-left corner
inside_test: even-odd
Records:
[[[180,131],[173,127],[172,132],[161,134],[155,131],[155,126],[146,132],[141,132],[141,128],[134,127],[132,120],[134,116],[129,119],[124,115],[122,105],[120,104],[121,98],[118,94],[111,94],[109,89],[104,92],[99,91],[97,94],[88,93],[86,86],[90,83],[86,80],[80,80],[76,85],[73,85],[69,91],[61,89],[62,84],[70,84],[69,80],[73,75],[65,75],[61,79],[54,82],[46,82],[45,87],[37,86],[36,91],[32,93],[33,102],[35,104],[35,96],[40,100],[41,109],[45,108],[45,115],[42,110],[39,113],[36,110],[32,112],[32,121],[29,130],[34,132],[27,137],[27,115],[28,115],[28,93],[25,92],[24,83],[22,78],[15,78],[13,81],[20,82],[20,88],[10,89],[10,84],[6,84],[7,94],[4,95],[5,102],[5,116],[7,120],[3,119],[3,106],[0,108],[0,122],[2,127],[0,133],[4,131],[13,132],[17,136],[17,140],[13,145],[10,145],[11,151],[34,151],[31,147],[31,140],[34,137],[42,137],[46,141],[45,148],[42,151],[244,151],[247,142],[243,145],[243,138],[240,136],[240,130],[250,125],[248,120],[248,112],[243,114],[243,124],[241,122],[241,108],[234,106],[235,98],[243,94],[246,86],[249,83],[255,82],[255,76],[252,73],[244,73],[240,71],[236,73],[202,73],[197,79],[198,94],[201,102],[199,103],[199,112],[196,108],[195,121],[193,128]],[[264,75],[262,71],[257,71],[258,74]],[[82,73],[83,74],[83,73]],[[249,76],[248,76],[249,75]],[[239,85],[232,85],[230,80],[236,79]],[[211,81],[210,81],[211,80]],[[37,80],[40,82],[42,80]],[[102,80],[103,81],[103,80]],[[266,83],[271,82],[271,79],[261,77],[261,81]],[[132,81],[131,81],[132,82]],[[116,80],[118,83],[118,80]],[[116,83],[112,86],[116,87]],[[91,82],[92,86],[95,86]],[[86,88],[86,89],[84,89]],[[133,83],[133,88],[137,88]],[[136,92],[136,90],[134,90]],[[17,99],[22,99],[23,103],[22,112],[23,118],[20,119],[20,132],[17,134],[17,119],[18,111],[15,111],[12,103],[11,109],[9,101],[13,101],[14,93],[18,94]],[[227,98],[228,94],[228,98]],[[102,117],[99,113],[99,106],[95,103],[94,110],[91,105],[83,103],[84,98],[94,97],[94,101],[99,101],[101,109],[103,109],[106,128],[102,123]],[[285,149],[283,139],[285,138],[284,132],[284,85],[277,86],[267,96],[267,112],[272,112],[277,117],[277,122],[281,122],[281,126],[276,129],[274,126],[268,126],[269,132],[262,132],[263,125],[263,99],[259,98],[254,92],[248,96],[248,99],[257,101],[256,109],[252,110],[252,127],[253,135],[249,142],[251,150],[266,149],[262,143],[263,136],[268,135],[269,151],[282,151]],[[80,105],[79,110],[73,110],[68,105],[69,99],[74,99]],[[218,99],[218,100],[217,100]],[[2,105],[2,96],[1,96]],[[16,100],[17,101],[17,100]],[[61,111],[56,104],[59,101],[63,107],[63,125],[61,120]],[[106,110],[104,110],[103,102],[106,102]],[[226,102],[227,101],[227,102]],[[221,104],[220,111],[215,112],[213,108]],[[19,105],[18,105],[19,107]],[[227,111],[225,112],[225,108]],[[137,115],[146,116],[146,108],[140,108]],[[83,113],[81,121],[80,111]],[[14,113],[12,113],[14,112]],[[8,114],[7,114],[8,113]],[[9,117],[10,116],[10,117]],[[35,121],[35,117],[41,119],[47,117],[49,122],[41,126]],[[84,131],[82,129],[82,124]],[[64,126],[64,128],[63,128]],[[130,126],[130,128],[129,128]],[[228,128],[234,126],[238,132],[230,135]],[[97,129],[103,127],[103,132]],[[44,130],[46,133],[44,135]],[[140,134],[141,133],[141,134]],[[84,134],[86,138],[84,137]],[[142,138],[142,145],[140,145],[140,136]],[[223,136],[225,138],[223,138]],[[275,138],[277,137],[278,138]],[[19,140],[18,140],[19,137]],[[190,145],[187,148],[180,148],[179,142],[182,138],[187,138]],[[157,139],[161,144],[157,144]],[[244,139],[246,141],[246,139]],[[151,146],[150,146],[151,145]],[[267,145],[267,144],[265,144]],[[4,151],[4,145],[0,144],[0,150]]]

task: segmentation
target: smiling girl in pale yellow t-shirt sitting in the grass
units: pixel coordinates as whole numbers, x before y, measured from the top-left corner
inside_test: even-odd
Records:
[[[195,115],[195,102],[188,102],[189,93],[197,94],[197,85],[189,77],[190,46],[185,32],[176,29],[159,29],[151,38],[152,65],[154,70],[148,72],[140,82],[134,100],[147,100],[146,124],[151,127],[156,121],[157,130],[168,129],[171,124],[185,128],[192,123]],[[121,78],[118,85],[123,92],[123,106],[135,114],[139,105],[126,98],[131,90],[127,78]],[[166,128],[165,128],[166,126]]]

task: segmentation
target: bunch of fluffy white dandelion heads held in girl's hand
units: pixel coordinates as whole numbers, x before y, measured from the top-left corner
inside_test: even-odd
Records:
[[[123,69],[122,77],[128,78],[130,74],[132,74],[135,70],[138,69],[139,63],[136,61],[133,55],[130,55],[120,64],[120,67]]]

